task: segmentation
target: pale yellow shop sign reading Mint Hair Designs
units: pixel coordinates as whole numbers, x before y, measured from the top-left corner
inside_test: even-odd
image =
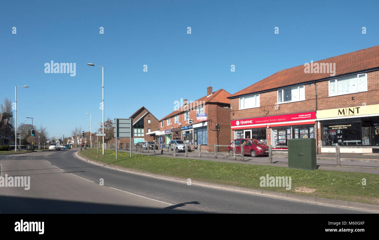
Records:
[[[317,119],[331,117],[350,117],[369,114],[379,114],[379,104],[316,111]]]

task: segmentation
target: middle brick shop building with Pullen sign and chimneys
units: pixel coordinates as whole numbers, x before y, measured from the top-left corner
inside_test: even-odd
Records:
[[[157,143],[166,147],[170,140],[181,139],[195,145],[229,144],[229,96],[224,89],[213,92],[212,87],[207,87],[206,96],[191,102],[185,99],[182,106],[178,104],[177,109],[159,120]],[[219,126],[217,131],[216,125]],[[204,146],[202,150],[214,151],[214,146]]]

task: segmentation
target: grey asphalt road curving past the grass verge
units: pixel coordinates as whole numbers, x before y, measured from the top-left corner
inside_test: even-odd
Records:
[[[1,176],[30,176],[30,190],[0,187],[0,212],[366,213],[125,173],[81,161],[75,151],[0,156]]]

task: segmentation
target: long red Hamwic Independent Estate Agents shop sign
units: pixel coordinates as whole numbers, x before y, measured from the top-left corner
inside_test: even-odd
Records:
[[[252,124],[266,124],[266,123],[277,123],[277,122],[289,122],[289,121],[300,121],[315,119],[316,112],[302,112],[294,114],[277,115],[271,117],[257,117],[257,118],[247,118],[241,120],[230,121],[231,126],[243,126]]]

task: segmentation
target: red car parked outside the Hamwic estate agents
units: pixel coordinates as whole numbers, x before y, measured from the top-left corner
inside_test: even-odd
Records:
[[[236,154],[241,154],[241,144],[244,144],[244,154],[250,154],[252,157],[258,155],[268,155],[268,145],[257,139],[235,139],[228,147],[230,156],[233,156],[233,143],[236,145]]]

